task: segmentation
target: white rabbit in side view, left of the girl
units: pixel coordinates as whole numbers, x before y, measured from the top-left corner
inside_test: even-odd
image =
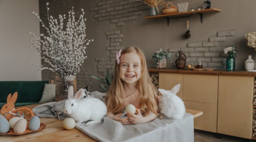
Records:
[[[80,99],[82,97],[82,92],[83,89],[80,89],[74,95],[73,87],[70,86],[68,88],[68,99],[65,102],[63,112],[68,114],[77,123],[91,120],[90,122],[87,122],[85,126],[100,122],[103,116],[107,114],[106,104],[93,97]]]

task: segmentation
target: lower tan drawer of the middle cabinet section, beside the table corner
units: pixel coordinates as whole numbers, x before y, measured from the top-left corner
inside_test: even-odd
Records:
[[[186,108],[203,111],[203,115],[194,118],[194,128],[217,132],[217,104],[184,101]]]

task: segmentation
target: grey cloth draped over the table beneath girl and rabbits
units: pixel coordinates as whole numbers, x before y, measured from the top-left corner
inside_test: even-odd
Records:
[[[66,100],[49,102],[39,105],[33,112],[40,118],[68,117],[63,107]],[[193,115],[186,113],[181,120],[172,120],[166,116],[144,124],[121,124],[104,117],[100,123],[85,126],[86,123],[76,123],[76,128],[89,137],[100,142],[194,142]]]

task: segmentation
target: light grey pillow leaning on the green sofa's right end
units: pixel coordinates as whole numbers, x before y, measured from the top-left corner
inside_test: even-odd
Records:
[[[44,84],[44,91],[39,103],[51,102],[55,100],[55,84]]]

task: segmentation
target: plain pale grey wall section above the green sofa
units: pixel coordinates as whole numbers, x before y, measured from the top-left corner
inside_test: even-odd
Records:
[[[36,49],[27,38],[39,36],[39,20],[32,14],[39,13],[36,0],[0,0],[0,81],[41,80],[41,71],[31,65],[41,64]]]

